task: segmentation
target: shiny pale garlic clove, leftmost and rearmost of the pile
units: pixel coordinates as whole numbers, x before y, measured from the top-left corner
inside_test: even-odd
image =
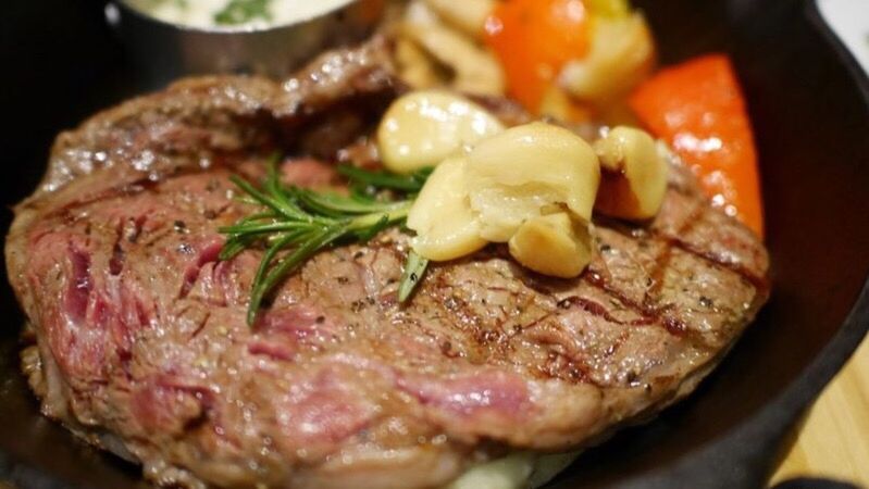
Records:
[[[436,90],[415,91],[396,100],[377,129],[383,164],[396,173],[433,166],[463,145],[504,130],[476,103]]]

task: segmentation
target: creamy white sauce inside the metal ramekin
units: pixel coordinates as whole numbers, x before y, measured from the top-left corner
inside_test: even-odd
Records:
[[[352,0],[265,0],[271,18],[255,17],[241,24],[221,24],[215,15],[232,0],[124,0],[146,14],[172,24],[199,28],[262,28],[293,24],[331,12]]]

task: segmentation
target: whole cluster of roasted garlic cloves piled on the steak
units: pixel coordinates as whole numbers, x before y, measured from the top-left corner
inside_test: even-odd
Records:
[[[407,221],[414,251],[433,261],[508,243],[525,267],[575,277],[593,258],[593,212],[648,220],[667,190],[667,160],[643,130],[616,127],[592,146],[551,124],[505,129],[444,92],[396,101],[378,145],[389,170],[437,164]]]

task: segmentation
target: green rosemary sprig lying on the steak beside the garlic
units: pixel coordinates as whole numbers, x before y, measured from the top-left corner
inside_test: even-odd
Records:
[[[431,170],[411,175],[372,172],[352,166],[338,171],[350,181],[350,196],[316,192],[281,184],[277,159],[269,163],[261,188],[233,176],[244,191],[243,202],[261,208],[258,212],[220,228],[227,235],[220,259],[229,260],[244,250],[264,244],[250,292],[248,324],[253,324],[268,294],[308,259],[331,246],[365,242],[386,227],[401,225]],[[399,284],[399,300],[407,300],[425,272],[427,260],[408,254]]]

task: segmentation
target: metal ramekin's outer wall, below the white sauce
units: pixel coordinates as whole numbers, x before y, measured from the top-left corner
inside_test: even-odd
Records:
[[[316,0],[310,0],[316,1]],[[105,18],[153,88],[185,75],[255,73],[282,78],[324,49],[358,42],[377,24],[383,0],[355,0],[294,24],[201,28],[152,17],[124,0]]]

